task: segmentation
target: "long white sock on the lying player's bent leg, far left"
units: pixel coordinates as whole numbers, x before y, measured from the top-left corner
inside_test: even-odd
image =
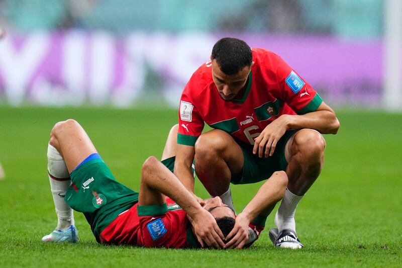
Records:
[[[64,196],[71,185],[63,157],[55,147],[49,144],[47,148],[50,189],[53,195],[54,206],[57,214],[57,229],[65,229],[74,225],[73,210],[64,201]]]

